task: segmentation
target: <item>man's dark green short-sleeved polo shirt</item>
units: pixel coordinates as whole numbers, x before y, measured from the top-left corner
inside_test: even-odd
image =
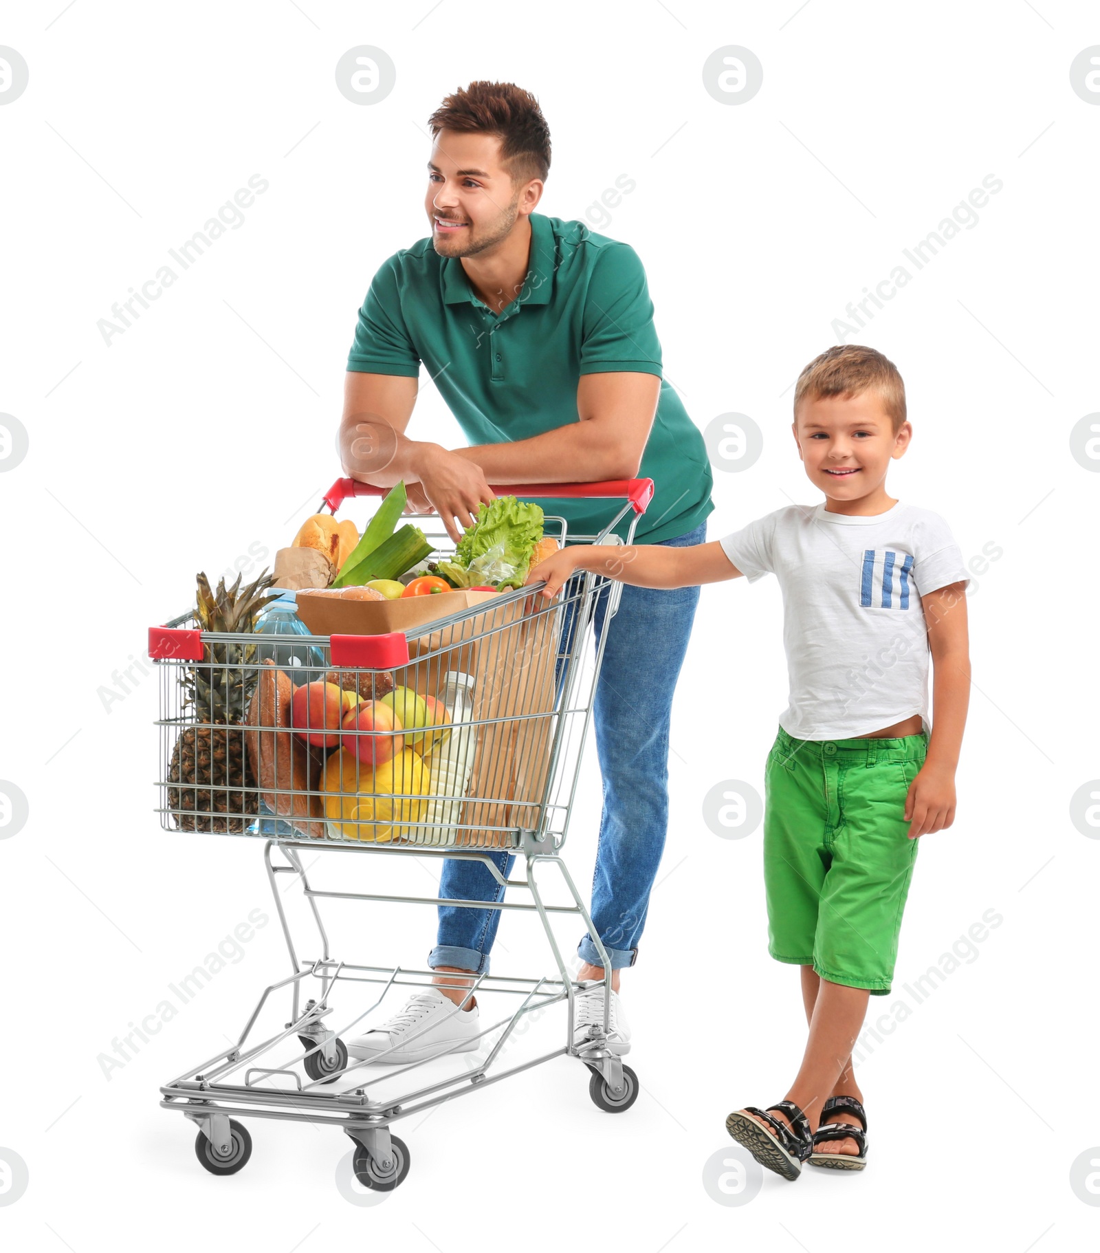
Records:
[[[629,244],[593,234],[583,222],[532,213],[522,291],[494,315],[474,294],[461,262],[421,239],[375,274],[347,368],[415,378],[421,362],[471,444],[525,440],[580,421],[581,375],[662,377],[641,262]],[[664,380],[639,477],[654,482],[635,533],[641,543],[684,535],[714,507],[703,436]],[[581,535],[606,526],[616,507],[541,502]]]

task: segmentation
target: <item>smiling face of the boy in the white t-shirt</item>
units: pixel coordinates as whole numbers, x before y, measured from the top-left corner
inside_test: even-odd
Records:
[[[886,480],[890,462],[908,447],[913,429],[893,422],[873,391],[804,400],[794,416],[794,440],[806,472],[833,500],[859,500]]]

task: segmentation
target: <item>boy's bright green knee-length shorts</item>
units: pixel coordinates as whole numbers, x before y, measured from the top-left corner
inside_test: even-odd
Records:
[[[768,952],[886,996],[920,840],[906,793],[928,737],[794,739],[764,767]]]

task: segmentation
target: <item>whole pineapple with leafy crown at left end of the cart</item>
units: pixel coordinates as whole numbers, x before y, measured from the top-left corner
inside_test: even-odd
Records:
[[[205,574],[199,574],[197,583],[195,616],[205,632],[251,634],[259,611],[277,599],[263,595],[274,583],[267,570],[243,589],[241,575],[228,591],[224,579],[218,580],[217,593],[210,591]],[[213,664],[188,669],[179,680],[183,708],[190,708],[194,718],[194,724],[185,727],[175,741],[168,767],[168,782],[174,784],[168,788],[168,807],[187,811],[174,814],[182,831],[239,834],[249,821],[244,814],[259,812],[259,792],[244,748],[243,728],[257,683],[254,657],[256,644],[236,640],[207,644],[203,660]],[[231,729],[238,725],[239,730]],[[205,787],[179,786],[188,783]]]

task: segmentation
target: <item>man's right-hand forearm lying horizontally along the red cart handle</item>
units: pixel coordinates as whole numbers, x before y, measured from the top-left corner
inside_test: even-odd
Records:
[[[504,484],[633,479],[639,464],[590,421],[570,422],[527,440],[476,444],[455,452],[480,466],[487,482]]]

